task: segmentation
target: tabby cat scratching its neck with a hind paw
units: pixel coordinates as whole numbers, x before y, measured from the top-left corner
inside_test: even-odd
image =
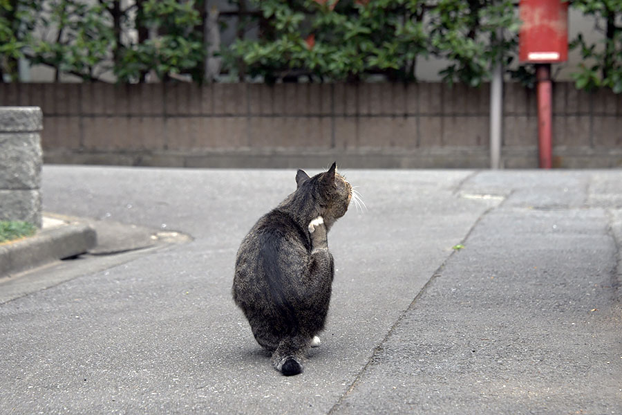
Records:
[[[262,216],[238,249],[234,301],[285,376],[301,373],[328,313],[334,263],[327,234],[352,199],[352,186],[335,170],[335,163],[313,177],[299,170],[296,191]]]

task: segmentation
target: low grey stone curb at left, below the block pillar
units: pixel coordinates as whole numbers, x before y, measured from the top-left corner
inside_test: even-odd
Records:
[[[32,237],[0,245],[0,277],[8,277],[83,254],[97,244],[97,234],[85,223],[65,223]]]

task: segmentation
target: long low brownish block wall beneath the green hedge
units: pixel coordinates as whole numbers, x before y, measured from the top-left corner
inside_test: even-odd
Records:
[[[506,84],[505,167],[537,167],[534,91]],[[488,167],[489,86],[1,84],[43,109],[48,163]],[[554,165],[622,165],[622,96],[554,85]]]

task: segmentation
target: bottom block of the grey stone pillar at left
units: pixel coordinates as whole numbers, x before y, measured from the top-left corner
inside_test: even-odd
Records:
[[[0,221],[25,221],[40,227],[39,190],[0,190]]]

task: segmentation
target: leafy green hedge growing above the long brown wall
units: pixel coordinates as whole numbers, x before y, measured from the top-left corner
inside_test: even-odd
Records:
[[[382,75],[411,82],[417,63],[435,57],[446,62],[440,71],[446,82],[478,86],[489,80],[491,62],[516,59],[520,21],[511,0],[230,3],[243,11],[238,39],[220,50],[230,78],[276,82],[303,75],[331,82]],[[604,35],[602,46],[587,44],[582,35],[572,39],[585,58],[574,71],[576,85],[622,92],[622,0],[575,0],[570,6],[597,17],[596,30]],[[57,78],[72,73],[99,80],[109,72],[119,82],[143,82],[155,71],[162,80],[184,74],[202,82],[204,10],[203,0],[137,0],[126,9],[109,0],[0,0],[0,79],[17,80],[17,58],[26,57],[55,68]],[[245,35],[249,27],[258,28],[258,38]],[[150,28],[155,39],[149,39]],[[129,30],[138,38],[122,35]],[[529,83],[531,73],[521,66],[513,75]]]

